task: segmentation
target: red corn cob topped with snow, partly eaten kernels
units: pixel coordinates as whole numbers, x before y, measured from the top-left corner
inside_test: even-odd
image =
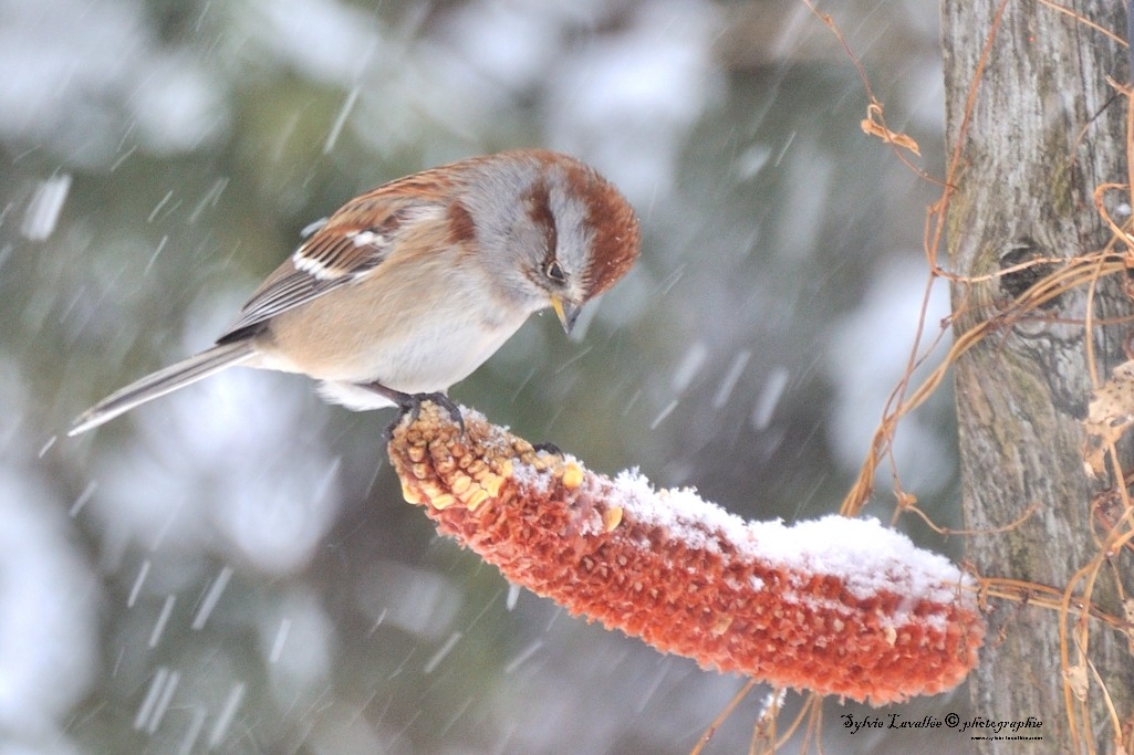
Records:
[[[396,429],[406,500],[573,614],[704,668],[875,705],[949,689],[976,663],[972,580],[877,520],[745,523],[464,422],[426,404]]]

